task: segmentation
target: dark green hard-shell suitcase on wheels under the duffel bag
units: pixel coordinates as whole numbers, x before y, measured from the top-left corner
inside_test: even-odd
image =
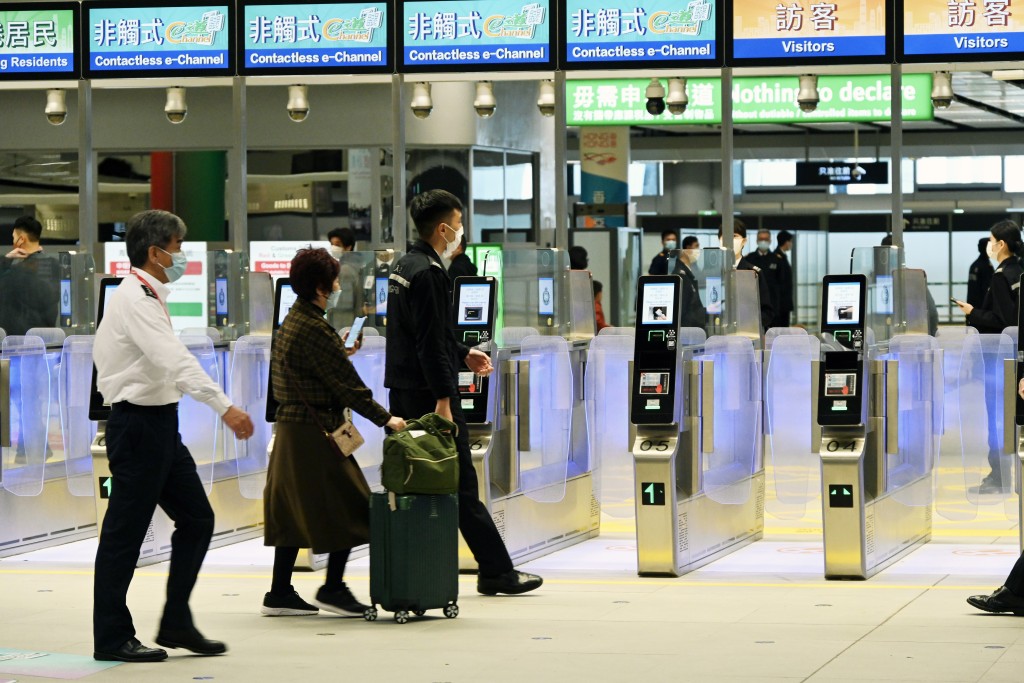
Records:
[[[377,605],[404,624],[428,609],[459,615],[459,498],[370,497],[370,599],[364,617],[377,618]]]

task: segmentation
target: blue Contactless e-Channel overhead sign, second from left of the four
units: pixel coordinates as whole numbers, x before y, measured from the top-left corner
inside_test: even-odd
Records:
[[[390,2],[284,4],[245,0],[241,5],[239,72],[370,74],[393,71],[388,38]]]

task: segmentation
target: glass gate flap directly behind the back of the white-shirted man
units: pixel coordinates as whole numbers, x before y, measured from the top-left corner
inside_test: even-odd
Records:
[[[68,490],[72,496],[92,498],[92,439],[96,423],[89,419],[92,385],[93,336],[76,335],[65,340],[57,377],[59,419],[63,436]]]

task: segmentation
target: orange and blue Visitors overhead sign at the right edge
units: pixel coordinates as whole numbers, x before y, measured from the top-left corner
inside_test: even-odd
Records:
[[[896,11],[900,61],[1024,55],[1024,17],[1011,0],[902,0]]]

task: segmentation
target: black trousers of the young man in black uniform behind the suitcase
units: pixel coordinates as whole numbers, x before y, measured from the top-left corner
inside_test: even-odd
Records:
[[[437,407],[430,391],[417,389],[391,389],[388,394],[388,411],[391,415],[412,420],[433,413]],[[459,399],[452,399],[452,418],[459,426],[456,447],[459,450],[459,530],[466,545],[473,552],[482,577],[497,577],[512,570],[502,537],[498,533],[495,520],[487,507],[480,502],[480,490],[473,467],[473,457],[469,452],[469,430],[462,414]]]

